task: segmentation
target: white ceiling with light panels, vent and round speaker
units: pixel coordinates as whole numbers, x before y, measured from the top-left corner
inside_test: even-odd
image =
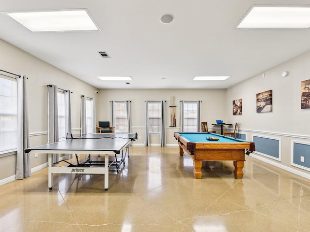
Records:
[[[269,4],[292,0],[0,0],[0,12],[86,8],[100,28],[33,33],[0,14],[0,38],[99,89],[228,88],[310,50],[310,29],[236,28],[252,5]],[[231,77],[192,80],[203,75]]]

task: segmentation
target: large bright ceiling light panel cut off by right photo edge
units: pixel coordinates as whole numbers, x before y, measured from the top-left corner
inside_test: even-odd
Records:
[[[309,28],[310,7],[254,6],[237,28]]]

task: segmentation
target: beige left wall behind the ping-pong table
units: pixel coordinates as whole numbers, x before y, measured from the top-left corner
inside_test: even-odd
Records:
[[[72,128],[80,128],[80,95],[95,98],[91,85],[65,73],[48,63],[31,56],[15,46],[0,40],[0,69],[10,73],[24,74],[28,79],[30,146],[47,143],[47,85],[70,89]],[[47,155],[34,158],[31,168],[47,162]],[[16,156],[0,158],[0,181],[15,174]]]

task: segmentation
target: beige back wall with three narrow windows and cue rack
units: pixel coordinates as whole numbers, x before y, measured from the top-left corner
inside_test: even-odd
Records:
[[[177,128],[169,128],[170,101],[175,97]],[[173,132],[180,130],[180,101],[202,101],[201,118],[212,127],[217,119],[226,121],[226,90],[225,89],[101,89],[96,102],[97,121],[111,121],[110,101],[131,101],[132,132],[138,132],[136,144],[144,143],[145,135],[145,101],[167,101],[166,105],[166,144],[177,145]],[[151,144],[158,144],[158,136],[151,137]]]

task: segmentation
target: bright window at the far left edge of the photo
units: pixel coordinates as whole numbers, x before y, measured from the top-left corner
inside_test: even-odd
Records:
[[[16,80],[0,77],[0,152],[17,149]]]

